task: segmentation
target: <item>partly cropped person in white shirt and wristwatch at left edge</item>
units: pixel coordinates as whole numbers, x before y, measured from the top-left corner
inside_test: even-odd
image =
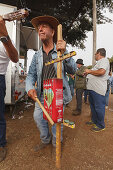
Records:
[[[18,52],[11,42],[5,22],[0,16],[0,162],[6,157],[5,74],[9,61],[18,62]]]

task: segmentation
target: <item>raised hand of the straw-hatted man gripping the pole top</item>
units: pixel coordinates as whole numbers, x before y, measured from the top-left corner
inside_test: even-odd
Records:
[[[56,44],[57,51],[61,51],[63,54],[66,50],[66,42],[64,40],[58,40]]]

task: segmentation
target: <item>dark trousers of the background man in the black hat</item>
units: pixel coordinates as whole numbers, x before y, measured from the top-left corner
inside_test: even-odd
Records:
[[[84,89],[76,89],[76,110],[81,111],[82,110],[82,95],[83,95]]]

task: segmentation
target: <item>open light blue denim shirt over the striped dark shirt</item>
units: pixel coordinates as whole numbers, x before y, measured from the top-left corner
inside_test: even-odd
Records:
[[[65,52],[65,54],[67,51]],[[54,44],[54,50],[52,52],[52,59],[57,58],[56,45]],[[55,71],[57,73],[57,63],[54,63]],[[32,59],[31,65],[26,78],[26,91],[35,88],[35,83],[37,82],[37,96],[40,99],[41,96],[41,76],[43,68],[43,52],[42,47],[37,51]],[[62,79],[63,79],[63,103],[67,104],[72,100],[70,87],[66,77],[66,72],[68,74],[74,74],[76,71],[76,63],[74,59],[68,58],[62,62]]]

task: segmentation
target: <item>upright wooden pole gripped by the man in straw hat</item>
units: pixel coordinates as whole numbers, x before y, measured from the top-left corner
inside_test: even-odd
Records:
[[[58,25],[57,40],[62,40],[62,25]],[[61,56],[61,52],[57,52],[57,57]],[[62,62],[57,63],[57,78],[62,78]],[[56,124],[56,168],[60,169],[61,163],[61,123]]]

